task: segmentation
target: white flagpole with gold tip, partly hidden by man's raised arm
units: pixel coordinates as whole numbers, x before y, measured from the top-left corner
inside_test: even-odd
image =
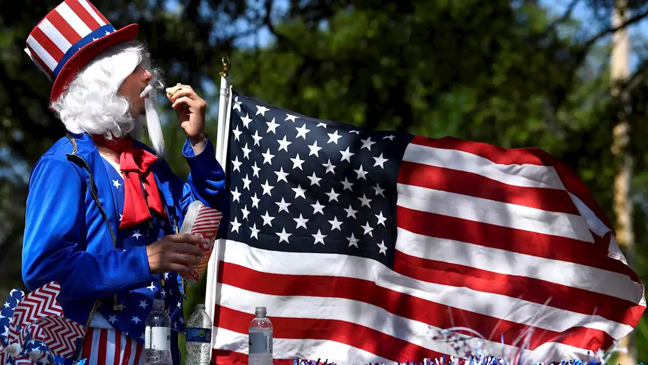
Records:
[[[223,71],[220,73],[220,99],[218,103],[218,129],[216,132],[216,160],[226,170],[227,159],[227,140],[229,140],[229,110],[231,109],[232,94],[231,86],[227,81],[227,71],[229,71],[229,59],[222,58]],[[220,251],[224,247],[224,240],[216,240],[214,242],[214,249],[209,262],[207,263],[207,283],[205,287],[205,310],[209,314],[212,323],[216,324],[214,318],[214,306],[216,305],[216,281],[218,280],[218,259]],[[211,337],[211,346],[214,347],[216,333]],[[209,351],[211,358],[211,351]],[[211,360],[211,359],[210,359]]]

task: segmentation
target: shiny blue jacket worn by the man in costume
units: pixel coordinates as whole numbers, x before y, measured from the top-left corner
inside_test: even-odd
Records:
[[[179,231],[187,207],[196,199],[221,211],[228,206],[225,174],[211,142],[198,155],[185,142],[183,155],[191,168],[187,183],[163,159],[152,168],[174,226],[170,233]],[[86,326],[97,299],[110,298],[119,306],[130,290],[145,288],[160,276],[150,274],[145,245],[117,248],[119,214],[110,185],[103,158],[88,134],[58,140],[30,175],[23,281],[29,290],[50,281],[60,283],[64,315]]]

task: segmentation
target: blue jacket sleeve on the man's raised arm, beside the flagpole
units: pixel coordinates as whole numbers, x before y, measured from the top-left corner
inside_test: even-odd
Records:
[[[182,147],[182,154],[189,164],[191,172],[187,179],[188,183],[183,187],[182,212],[185,214],[189,205],[196,200],[202,201],[207,207],[218,209],[221,212],[229,207],[227,191],[225,190],[225,171],[216,160],[216,151],[211,144],[209,137],[205,148],[198,155],[185,141]]]

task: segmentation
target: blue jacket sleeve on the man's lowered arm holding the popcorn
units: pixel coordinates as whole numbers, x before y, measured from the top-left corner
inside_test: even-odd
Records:
[[[83,299],[150,283],[146,246],[101,254],[86,251],[91,247],[88,240],[110,242],[111,237],[102,220],[86,225],[85,196],[86,185],[67,160],[49,155],[34,166],[22,257],[29,290],[57,281],[61,299]]]

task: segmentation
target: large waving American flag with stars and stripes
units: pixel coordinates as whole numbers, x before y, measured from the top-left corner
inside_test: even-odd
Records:
[[[608,218],[547,153],[233,97],[214,363],[246,362],[256,306],[279,364],[466,357],[449,328],[494,356],[592,359],[637,325],[643,286]]]

